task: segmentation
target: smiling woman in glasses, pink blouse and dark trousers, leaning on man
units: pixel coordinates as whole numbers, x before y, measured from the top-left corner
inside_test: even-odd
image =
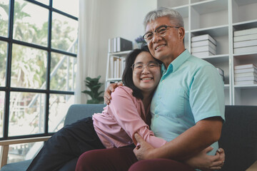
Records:
[[[127,61],[135,59],[132,68],[131,62],[126,62],[123,76],[126,86],[115,90],[114,103],[107,105],[102,113],[94,114],[93,118],[79,120],[55,133],[31,162],[28,171],[60,170],[67,162],[77,160],[83,152],[133,145],[135,133],[153,147],[166,143],[156,138],[146,124],[150,120],[151,97],[161,78],[161,65],[147,48],[135,49],[127,56]]]

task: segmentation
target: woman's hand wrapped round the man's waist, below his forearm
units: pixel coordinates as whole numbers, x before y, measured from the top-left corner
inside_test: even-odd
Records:
[[[208,155],[207,152],[211,150],[213,150],[212,147],[206,147],[206,149],[184,162],[200,170],[220,170],[225,161],[225,152],[222,148],[219,148],[216,155]]]

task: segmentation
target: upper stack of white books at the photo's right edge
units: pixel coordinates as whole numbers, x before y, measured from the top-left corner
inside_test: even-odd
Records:
[[[234,53],[257,52],[257,28],[234,31]]]

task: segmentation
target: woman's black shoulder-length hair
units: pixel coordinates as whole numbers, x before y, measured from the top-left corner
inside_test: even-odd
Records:
[[[133,71],[131,66],[136,60],[136,57],[138,56],[139,53],[146,51],[150,53],[149,49],[147,46],[141,46],[141,48],[136,48],[129,53],[128,56],[126,56],[126,64],[125,64],[125,69],[124,73],[122,74],[122,82],[124,83],[124,86],[127,86],[133,90],[132,95],[135,98],[140,98],[143,99],[143,94],[141,93],[141,90],[137,88],[134,83],[133,83]],[[158,60],[156,60],[158,61]],[[161,63],[160,61],[158,61]]]

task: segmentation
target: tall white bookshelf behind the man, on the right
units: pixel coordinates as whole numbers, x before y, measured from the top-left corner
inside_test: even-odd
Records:
[[[181,14],[189,51],[193,36],[209,34],[216,39],[216,55],[203,59],[224,71],[226,105],[257,105],[257,85],[234,84],[234,66],[257,63],[257,49],[233,53],[233,31],[257,28],[257,0],[157,0],[157,6]]]

